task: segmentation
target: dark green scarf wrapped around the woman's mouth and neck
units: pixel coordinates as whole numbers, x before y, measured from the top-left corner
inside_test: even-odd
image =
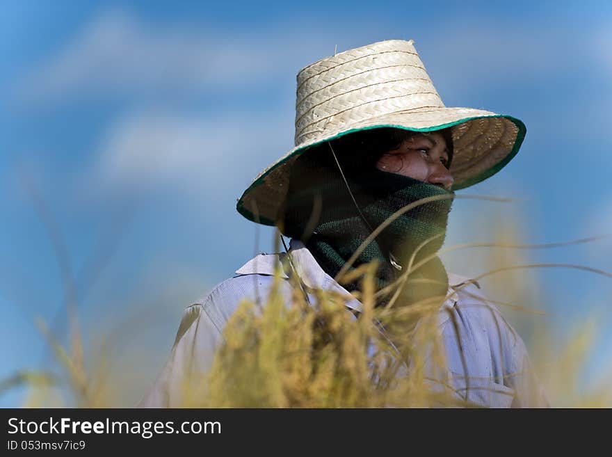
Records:
[[[367,219],[366,223],[357,211],[338,167],[330,166],[330,162],[324,163],[317,156],[304,154],[293,166],[287,199],[277,225],[286,236],[303,241],[323,271],[332,278],[371,231],[396,211],[422,198],[454,195],[412,177],[387,173],[374,166],[362,169],[359,163],[347,163],[342,170],[357,205]],[[427,202],[403,213],[367,245],[348,272],[376,259],[378,288],[386,287],[406,271],[417,246],[430,239],[414,256],[414,270],[414,265],[421,259],[435,255],[442,247],[452,202],[453,198]],[[316,211],[316,207],[320,207],[320,211]],[[433,236],[435,238],[431,239]],[[390,255],[402,266],[401,271],[392,265]],[[358,281],[343,285],[348,291],[360,287]],[[397,304],[411,305],[433,296],[439,296],[441,304],[448,287],[444,265],[435,256],[410,273]],[[378,300],[377,305],[388,303],[390,295]]]

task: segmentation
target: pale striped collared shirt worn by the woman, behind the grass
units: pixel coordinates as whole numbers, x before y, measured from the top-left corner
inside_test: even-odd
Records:
[[[361,303],[323,271],[303,243],[291,240],[289,252],[293,268],[306,289],[346,294],[349,298],[346,306],[355,312],[361,310]],[[188,373],[209,370],[216,348],[223,343],[225,323],[243,298],[265,303],[273,275],[279,268],[283,271],[284,255],[255,256],[236,270],[234,278],[221,282],[200,303],[186,308],[170,358],[140,407],[182,404]],[[521,337],[478,291],[477,282],[454,273],[448,276],[449,298],[440,307],[439,326],[449,371],[445,381],[458,398],[493,408],[548,406]],[[289,303],[289,276],[281,273],[281,277]]]

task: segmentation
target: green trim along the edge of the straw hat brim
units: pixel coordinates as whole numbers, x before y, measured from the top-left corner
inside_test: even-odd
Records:
[[[341,133],[339,133],[337,135],[330,136],[330,138],[325,138],[324,140],[318,141],[316,143],[312,143],[312,145],[305,145],[303,147],[300,147],[300,148],[296,149],[295,151],[293,151],[293,154],[290,154],[289,156],[285,157],[282,161],[279,161],[278,163],[276,163],[275,166],[271,167],[269,170],[266,171],[266,173],[264,173],[264,175],[261,175],[255,182],[253,182],[250,186],[248,186],[248,189],[246,189],[244,191],[244,193],[242,194],[241,198],[239,198],[238,203],[236,204],[236,210],[240,214],[242,214],[242,216],[247,218],[249,221],[252,221],[252,222],[255,222],[255,223],[260,223],[260,224],[263,224],[263,225],[271,225],[272,227],[274,227],[276,225],[275,221],[273,221],[273,220],[271,220],[269,218],[261,217],[261,216],[256,217],[255,214],[253,214],[251,211],[249,211],[248,209],[246,209],[244,207],[244,203],[243,203],[244,196],[248,192],[250,192],[253,189],[255,189],[257,186],[262,184],[264,182],[264,179],[266,178],[266,176],[268,176],[270,173],[272,173],[273,170],[275,170],[276,168],[281,166],[283,163],[287,162],[289,159],[293,159],[293,157],[295,157],[296,155],[302,154],[309,147],[314,147],[314,146],[321,145],[322,143],[325,143],[327,141],[335,140],[336,138],[340,138],[341,136],[352,134],[352,133],[354,133],[356,131],[371,130],[371,129],[380,129],[380,128],[383,128],[383,127],[393,127],[395,129],[403,129],[403,130],[410,130],[410,131],[436,131],[436,130],[446,129],[448,127],[453,127],[454,125],[458,125],[458,124],[461,124],[462,122],[467,122],[469,120],[485,119],[485,118],[506,118],[506,119],[510,120],[510,122],[513,122],[513,124],[517,126],[517,129],[518,129],[517,137],[515,139],[515,143],[513,145],[513,148],[510,151],[510,154],[508,154],[506,157],[504,157],[504,159],[501,159],[501,161],[496,163],[491,168],[488,168],[488,170],[483,171],[483,173],[481,173],[480,175],[476,175],[476,176],[474,176],[474,177],[472,177],[470,179],[465,180],[464,182],[461,183],[460,186],[453,186],[451,190],[452,191],[458,191],[460,189],[465,189],[466,187],[473,186],[474,184],[478,184],[478,182],[481,182],[481,181],[487,179],[488,177],[491,177],[492,175],[497,173],[499,170],[504,168],[504,166],[506,166],[508,164],[508,162],[510,162],[510,160],[512,160],[513,157],[515,157],[517,152],[519,152],[519,149],[520,149],[520,147],[521,147],[521,145],[523,143],[523,140],[525,138],[525,134],[526,134],[526,131],[527,131],[527,128],[525,127],[525,125],[522,122],[522,120],[517,119],[517,118],[513,118],[510,115],[496,114],[496,115],[485,115],[485,116],[473,116],[471,118],[463,118],[463,119],[457,120],[455,122],[449,122],[447,124],[436,125],[434,127],[424,127],[424,128],[421,128],[421,129],[418,129],[418,128],[412,128],[411,129],[411,128],[405,127],[403,125],[390,125],[390,124],[371,125],[371,126],[362,127],[362,128],[359,128],[359,129],[349,129],[349,130],[343,131],[343,132],[341,132]]]

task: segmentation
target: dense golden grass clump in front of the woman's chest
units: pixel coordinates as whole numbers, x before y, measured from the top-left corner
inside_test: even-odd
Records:
[[[362,316],[354,319],[346,296],[315,291],[309,305],[293,287],[291,305],[284,303],[276,280],[261,312],[244,301],[224,331],[225,344],[208,376],[194,376],[185,406],[217,408],[383,408],[457,405],[451,392],[426,389],[422,360],[400,374],[402,362],[374,325],[372,269],[362,278]],[[353,277],[354,277],[353,275]],[[348,280],[352,280],[349,278]],[[412,342],[426,338],[423,326]],[[424,351],[414,350],[414,353]],[[202,383],[207,379],[206,383]],[[204,399],[201,401],[200,399]]]

